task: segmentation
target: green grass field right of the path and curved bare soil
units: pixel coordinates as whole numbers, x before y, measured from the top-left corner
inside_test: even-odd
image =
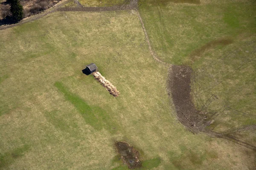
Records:
[[[192,95],[198,110],[214,120],[210,129],[224,133],[256,125],[255,1],[172,2],[140,2],[160,59],[193,68]],[[234,135],[255,145],[254,133]]]

